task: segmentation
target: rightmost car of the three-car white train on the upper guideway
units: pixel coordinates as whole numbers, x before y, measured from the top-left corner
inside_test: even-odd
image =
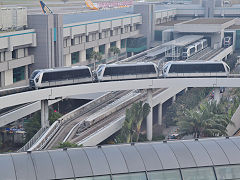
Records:
[[[227,77],[230,68],[223,61],[170,61],[163,67],[163,77]]]

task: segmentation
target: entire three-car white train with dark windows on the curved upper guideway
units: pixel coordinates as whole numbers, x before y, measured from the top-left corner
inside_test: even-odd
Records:
[[[226,77],[229,67],[222,61],[170,61],[163,67],[163,77]],[[159,75],[154,63],[101,64],[96,73],[87,66],[35,70],[29,81],[31,88],[133,79],[153,79]]]

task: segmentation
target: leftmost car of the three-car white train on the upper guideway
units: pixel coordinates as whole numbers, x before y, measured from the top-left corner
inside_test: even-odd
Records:
[[[91,69],[87,66],[73,66],[56,69],[33,71],[30,79],[31,88],[45,88],[68,84],[93,82]]]

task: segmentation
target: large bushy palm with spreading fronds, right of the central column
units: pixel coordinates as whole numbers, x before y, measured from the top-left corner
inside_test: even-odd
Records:
[[[226,127],[231,120],[221,113],[216,103],[200,105],[199,110],[185,110],[177,122],[181,135],[193,135],[194,138],[227,135]]]

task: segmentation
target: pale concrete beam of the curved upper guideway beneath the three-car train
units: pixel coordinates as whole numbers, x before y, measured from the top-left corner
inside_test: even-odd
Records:
[[[232,75],[230,75],[230,77],[231,76]],[[45,99],[54,100],[72,95],[97,92],[169,87],[240,87],[239,77],[239,75],[234,75],[234,78],[162,78],[89,83],[46,88],[0,97],[0,109]]]

